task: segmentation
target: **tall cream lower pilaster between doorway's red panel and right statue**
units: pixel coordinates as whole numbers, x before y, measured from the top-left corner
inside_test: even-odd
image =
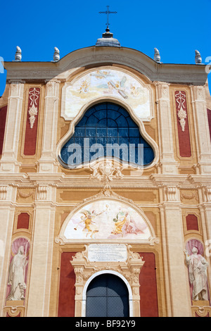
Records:
[[[191,317],[191,297],[188,285],[188,273],[184,263],[184,230],[179,201],[179,189],[176,186],[164,188],[165,234],[167,261],[170,282],[172,317]]]

